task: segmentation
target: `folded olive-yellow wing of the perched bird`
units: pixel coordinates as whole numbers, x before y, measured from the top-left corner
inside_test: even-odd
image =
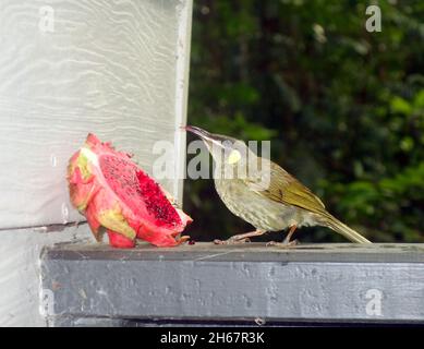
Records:
[[[259,179],[249,177],[245,179],[245,184],[250,190],[278,203],[298,206],[314,213],[325,213],[323,202],[308,188],[278,165],[272,161],[269,164],[269,181],[264,180],[264,177]]]

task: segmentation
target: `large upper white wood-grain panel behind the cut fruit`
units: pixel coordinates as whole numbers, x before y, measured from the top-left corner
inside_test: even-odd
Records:
[[[191,0],[0,0],[1,228],[82,219],[64,177],[87,132],[150,173],[154,143],[175,141],[182,172],[191,11]],[[181,197],[181,183],[162,184]]]

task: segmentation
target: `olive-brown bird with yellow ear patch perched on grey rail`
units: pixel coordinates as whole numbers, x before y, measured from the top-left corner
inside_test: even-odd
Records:
[[[372,243],[328,213],[320,198],[295,177],[257,156],[243,141],[194,125],[184,129],[197,135],[209,151],[215,161],[215,188],[225,205],[255,228],[227,240],[215,240],[215,243],[247,242],[269,231],[288,229],[282,243],[270,242],[288,248],[298,243],[291,238],[304,226],[327,227],[352,242]]]

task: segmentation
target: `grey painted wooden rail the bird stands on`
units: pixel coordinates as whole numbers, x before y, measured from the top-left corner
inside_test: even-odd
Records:
[[[424,323],[423,244],[63,244],[41,272],[57,326]]]

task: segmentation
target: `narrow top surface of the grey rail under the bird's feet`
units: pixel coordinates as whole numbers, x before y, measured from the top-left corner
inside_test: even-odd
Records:
[[[64,243],[47,248],[44,257],[56,260],[146,260],[146,261],[249,261],[249,262],[351,262],[424,263],[420,243],[315,243],[283,249],[265,243],[216,245],[199,242],[159,249],[140,244],[135,249],[112,249],[106,244]]]

